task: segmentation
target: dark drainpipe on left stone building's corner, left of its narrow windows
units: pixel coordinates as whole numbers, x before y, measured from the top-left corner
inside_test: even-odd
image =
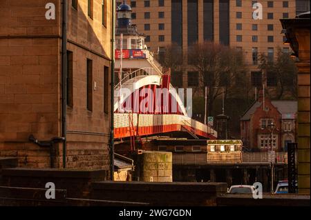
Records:
[[[62,137],[63,168],[66,168],[66,108],[67,108],[67,1],[62,1]]]

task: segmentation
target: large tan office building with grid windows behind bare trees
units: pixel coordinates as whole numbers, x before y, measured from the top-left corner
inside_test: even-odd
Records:
[[[123,0],[117,0],[121,3]],[[254,86],[261,84],[258,56],[265,52],[276,57],[276,48],[289,51],[279,19],[293,18],[310,10],[308,0],[127,0],[133,10],[132,21],[147,35],[146,43],[153,52],[177,43],[184,52],[182,86],[198,84],[187,65],[187,51],[196,41],[223,43],[245,52],[249,64],[249,79]],[[254,3],[261,3],[262,19],[253,19]],[[197,75],[197,74],[196,74]],[[172,73],[172,79],[181,78]],[[191,79],[188,79],[191,77]],[[195,79],[196,78],[196,79]]]

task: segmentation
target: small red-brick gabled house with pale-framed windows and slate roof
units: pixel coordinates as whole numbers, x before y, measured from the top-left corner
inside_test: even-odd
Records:
[[[252,151],[271,149],[269,124],[274,124],[273,149],[287,151],[287,144],[296,141],[296,101],[271,101],[263,97],[249,107],[241,117],[243,146]]]

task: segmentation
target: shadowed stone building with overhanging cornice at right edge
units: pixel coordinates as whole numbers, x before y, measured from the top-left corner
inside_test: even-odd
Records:
[[[310,194],[310,11],[281,23],[298,57],[298,192]]]

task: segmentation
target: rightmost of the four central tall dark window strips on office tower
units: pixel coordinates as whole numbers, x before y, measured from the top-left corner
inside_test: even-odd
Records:
[[[229,45],[229,0],[219,0],[219,41]]]

